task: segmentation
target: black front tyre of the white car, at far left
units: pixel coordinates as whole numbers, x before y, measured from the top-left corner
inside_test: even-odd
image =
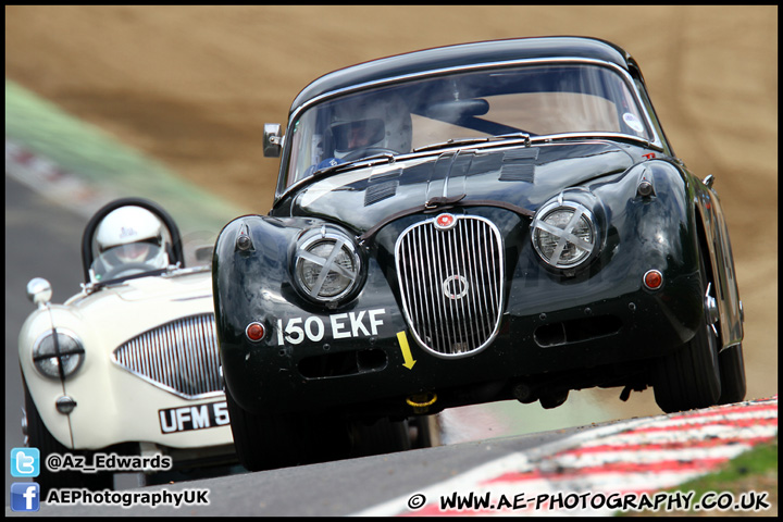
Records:
[[[62,487],[87,488],[94,492],[114,488],[114,474],[111,472],[80,473],[78,471],[51,472],[46,467],[47,457],[51,453],[76,455],[86,457],[86,462],[92,462],[91,451],[76,451],[69,449],[58,442],[44,424],[33,397],[27,389],[27,383],[22,377],[25,394],[25,417],[27,418],[27,445],[40,451],[40,474],[35,478],[40,485],[41,498],[46,499],[49,490]]]

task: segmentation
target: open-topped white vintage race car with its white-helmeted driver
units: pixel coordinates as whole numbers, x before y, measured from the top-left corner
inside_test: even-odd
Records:
[[[166,474],[234,465],[211,249],[196,252],[201,265],[185,268],[167,212],[124,198],[100,209],[85,228],[82,291],[54,304],[46,279],[28,283],[37,310],[18,340],[23,428],[27,445],[40,450],[36,481],[44,492],[112,488],[122,471],[154,483]],[[73,456],[62,460],[72,469],[50,470],[51,453]]]

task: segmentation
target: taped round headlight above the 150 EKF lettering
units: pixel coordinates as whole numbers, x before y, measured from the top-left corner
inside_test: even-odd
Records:
[[[355,240],[334,226],[308,231],[297,241],[293,279],[308,299],[336,306],[360,287],[362,259]]]

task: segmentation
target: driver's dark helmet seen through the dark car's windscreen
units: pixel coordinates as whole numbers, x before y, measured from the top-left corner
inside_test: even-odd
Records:
[[[360,96],[339,102],[330,125],[334,157],[382,147],[409,152],[412,140],[410,110],[399,95]]]

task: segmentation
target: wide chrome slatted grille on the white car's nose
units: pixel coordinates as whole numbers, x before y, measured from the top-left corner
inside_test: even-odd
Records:
[[[187,399],[222,394],[214,314],[181,319],[114,350],[114,362]]]

